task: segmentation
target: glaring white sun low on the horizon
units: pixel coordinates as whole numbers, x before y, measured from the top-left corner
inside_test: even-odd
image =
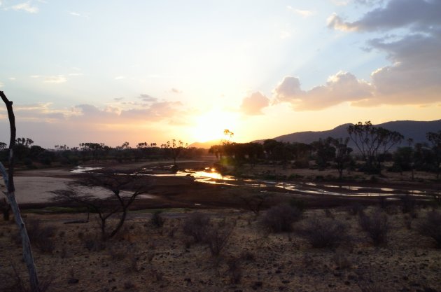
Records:
[[[192,136],[195,141],[206,142],[224,139],[223,131],[235,132],[237,115],[226,111],[209,111],[195,118]]]

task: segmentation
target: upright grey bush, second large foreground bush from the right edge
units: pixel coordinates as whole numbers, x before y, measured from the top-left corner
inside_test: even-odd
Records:
[[[387,234],[389,231],[389,223],[387,214],[381,210],[376,210],[371,216],[367,216],[363,212],[360,213],[358,218],[361,228],[367,232],[374,246],[386,244]]]

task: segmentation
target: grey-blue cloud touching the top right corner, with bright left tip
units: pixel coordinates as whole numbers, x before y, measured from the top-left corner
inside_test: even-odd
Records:
[[[424,31],[433,25],[441,25],[441,1],[391,0],[385,7],[367,12],[354,22],[345,22],[337,14],[328,18],[328,27],[343,31],[376,31],[401,27]]]

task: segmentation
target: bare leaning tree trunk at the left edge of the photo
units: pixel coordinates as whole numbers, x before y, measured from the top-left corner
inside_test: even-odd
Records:
[[[20,208],[18,207],[17,200],[15,200],[15,186],[14,186],[14,145],[15,145],[15,116],[13,112],[12,104],[9,99],[4,95],[3,91],[0,91],[0,96],[8,109],[8,118],[10,125],[10,141],[9,141],[9,172],[6,172],[5,167],[0,162],[0,171],[3,176],[3,180],[6,185],[6,197],[8,198],[11,209],[13,209],[15,223],[17,223],[22,237],[23,246],[23,260],[25,260],[27,271],[29,272],[29,282],[32,292],[39,292],[40,286],[38,284],[38,275],[34,263],[34,256],[32,256],[31,243],[29,242],[29,236],[25,223],[23,222],[20,214]]]

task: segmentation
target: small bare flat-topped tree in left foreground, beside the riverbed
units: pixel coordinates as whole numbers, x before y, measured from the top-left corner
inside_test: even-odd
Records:
[[[106,170],[99,174],[90,173],[80,177],[70,184],[66,190],[54,190],[53,200],[81,204],[89,211],[98,215],[102,239],[114,237],[123,227],[127,211],[134,200],[147,192],[151,185],[145,176],[139,176],[132,171]],[[78,186],[95,188],[101,187],[110,191],[109,197],[99,198],[93,195],[80,193]],[[124,195],[123,190],[126,190]],[[109,225],[108,219],[118,217],[116,225]]]

